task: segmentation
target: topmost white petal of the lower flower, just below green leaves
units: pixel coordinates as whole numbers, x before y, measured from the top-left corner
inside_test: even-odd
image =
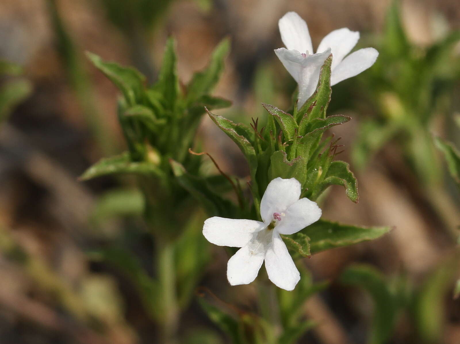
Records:
[[[260,216],[265,224],[273,220],[273,213],[282,213],[288,206],[299,200],[301,185],[295,178],[273,179],[267,186],[260,201]]]

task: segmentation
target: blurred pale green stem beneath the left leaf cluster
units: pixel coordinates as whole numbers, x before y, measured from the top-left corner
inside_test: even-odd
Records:
[[[161,342],[177,343],[179,307],[176,295],[176,276],[174,268],[174,243],[157,237],[158,279],[161,289],[161,306],[163,310]]]

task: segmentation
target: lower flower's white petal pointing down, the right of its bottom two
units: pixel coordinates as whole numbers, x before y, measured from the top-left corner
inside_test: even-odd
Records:
[[[299,270],[276,231],[273,231],[272,245],[265,253],[265,269],[270,281],[282,289],[293,290],[300,280]]]

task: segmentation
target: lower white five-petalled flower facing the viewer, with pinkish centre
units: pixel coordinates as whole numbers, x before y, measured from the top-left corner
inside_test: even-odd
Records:
[[[301,198],[301,185],[295,178],[275,178],[260,202],[264,222],[219,218],[204,222],[203,235],[219,246],[241,247],[227,264],[232,286],[254,281],[265,260],[270,281],[277,287],[293,290],[300,280],[288,248],[280,234],[294,234],[321,217],[321,209],[308,198]]]

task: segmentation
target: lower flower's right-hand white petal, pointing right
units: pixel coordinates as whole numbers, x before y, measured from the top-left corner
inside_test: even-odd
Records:
[[[316,202],[301,198],[284,212],[275,230],[281,234],[294,234],[321,218],[321,209]]]

